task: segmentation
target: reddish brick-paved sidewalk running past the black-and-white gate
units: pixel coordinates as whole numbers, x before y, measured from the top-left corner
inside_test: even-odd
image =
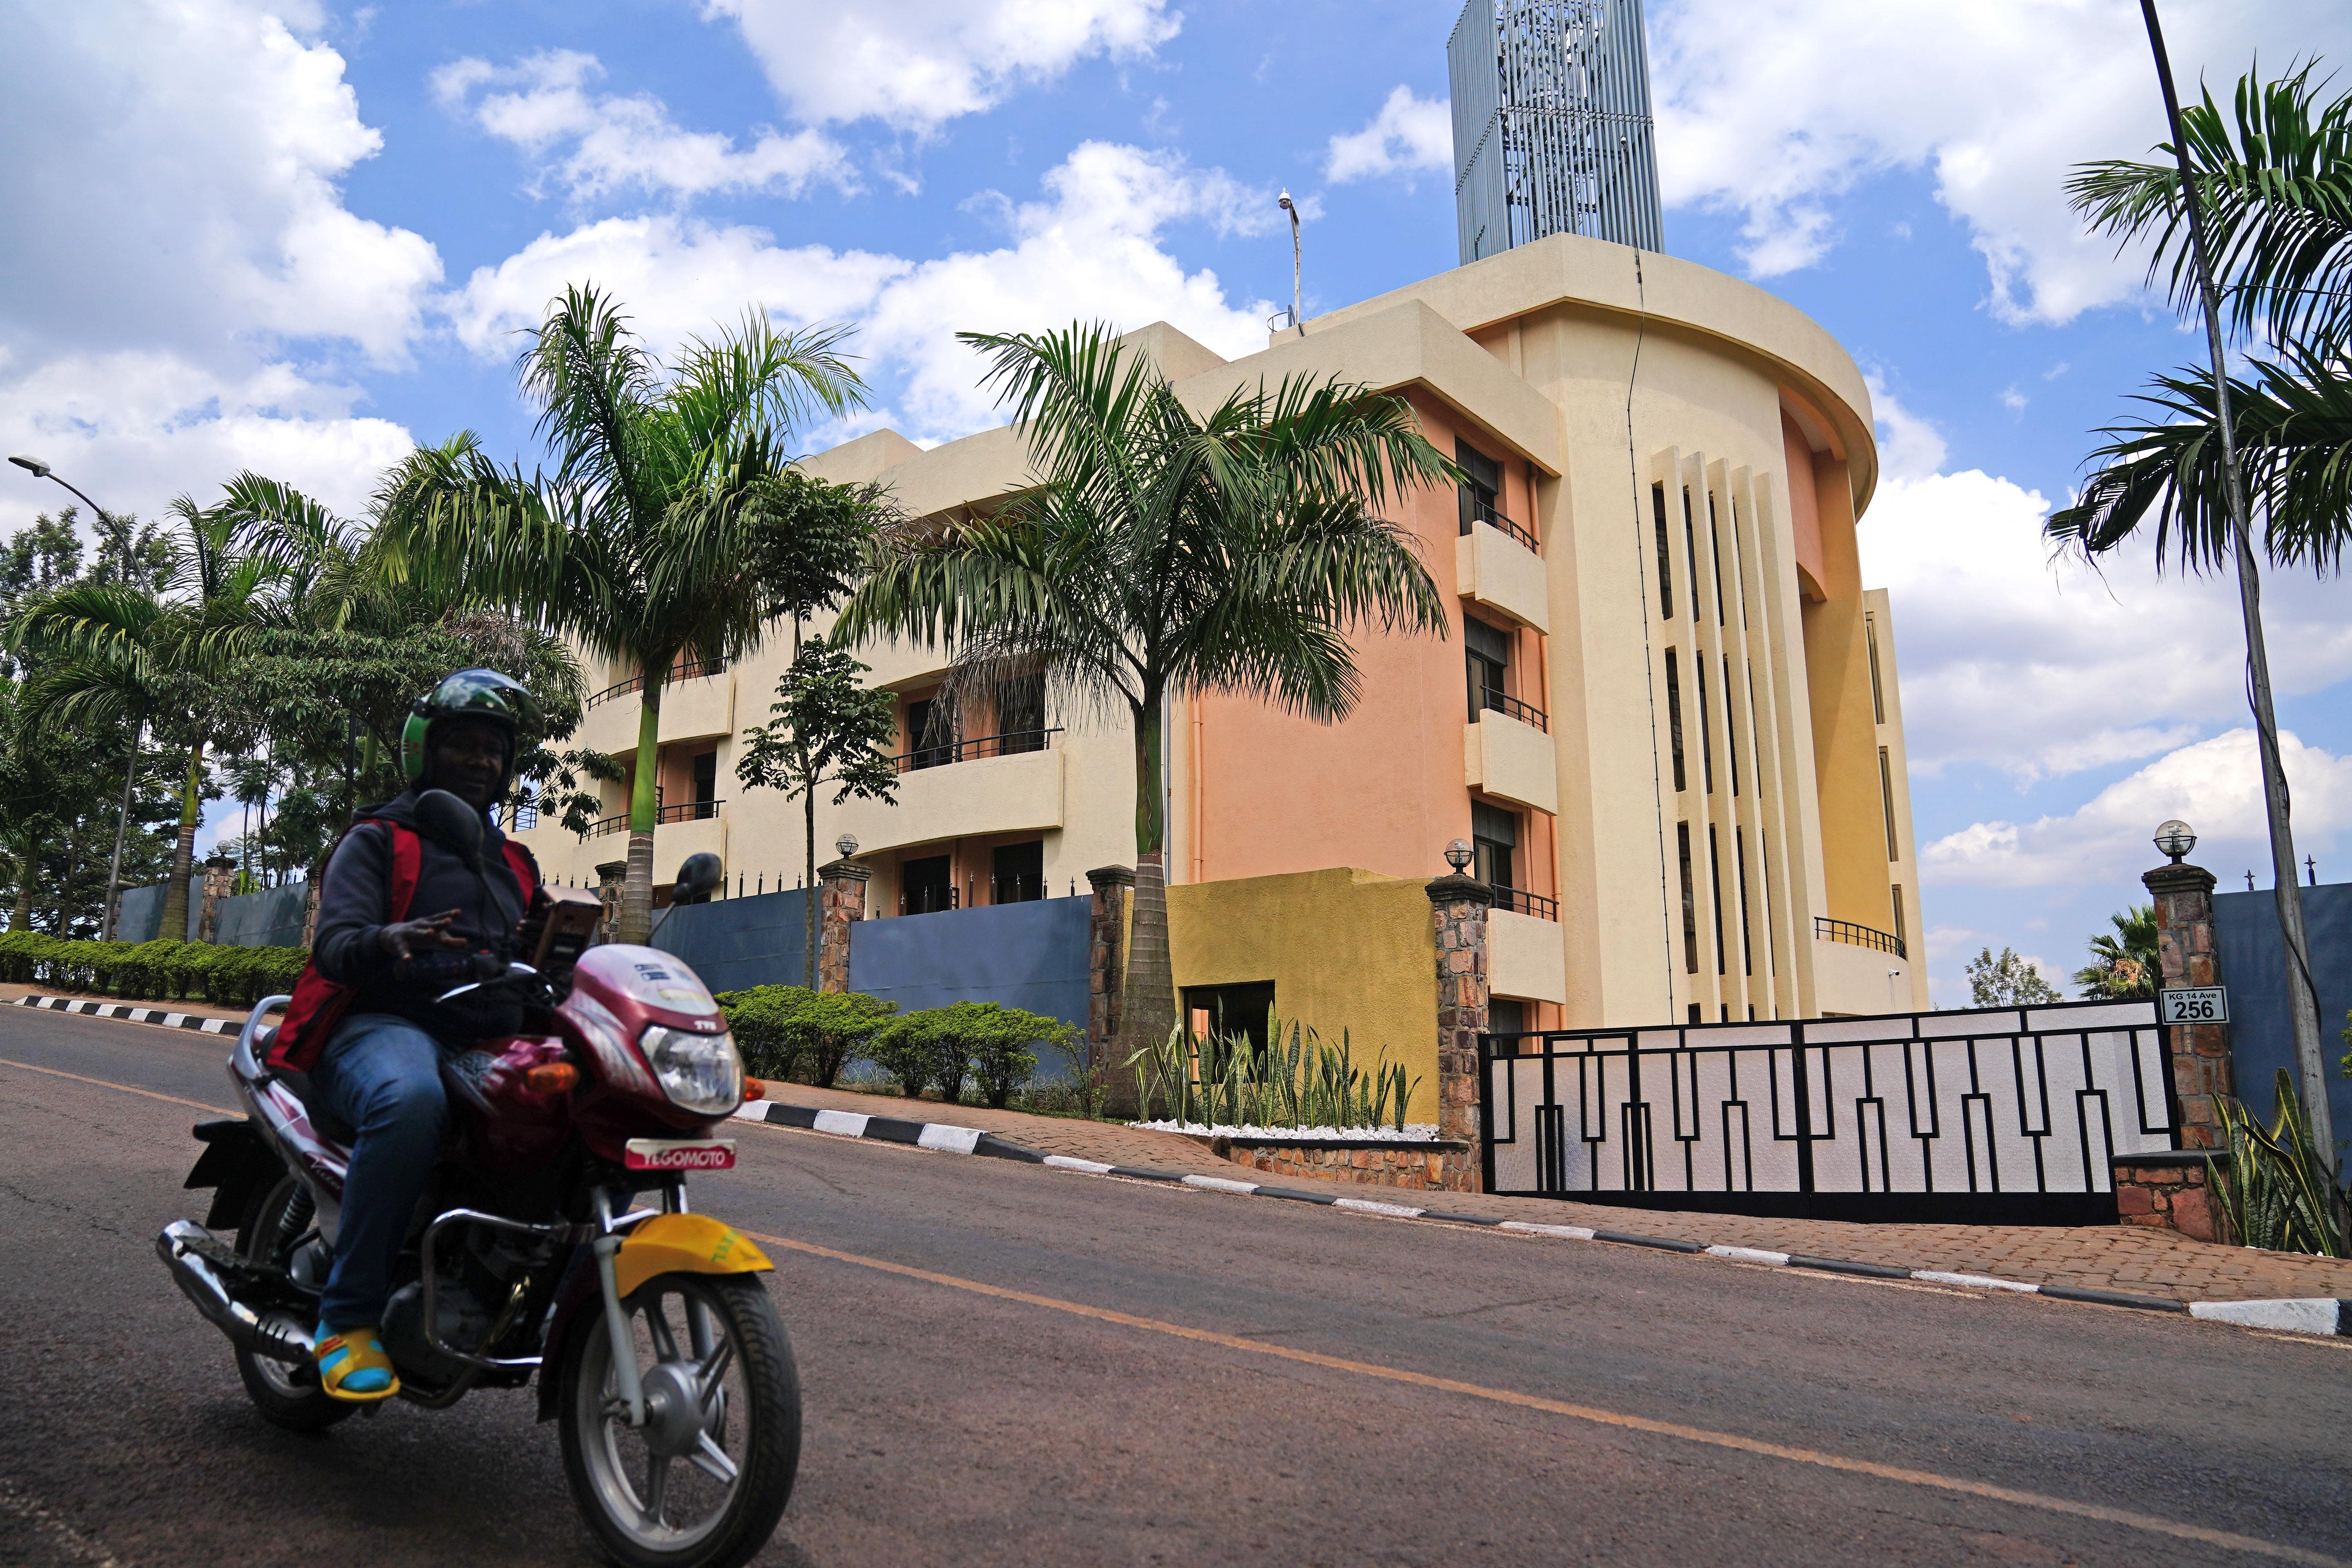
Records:
[[[1150,1166],[1200,1175],[1240,1175],[1240,1168],[1176,1133],[1148,1133],[1108,1121],[1033,1117],[981,1105],[941,1105],[896,1095],[776,1084],[786,1105],[847,1110],[870,1117],[976,1126],[1047,1154],[1070,1154],[1112,1166]],[[1303,1180],[1303,1178],[1301,1178]],[[1367,1197],[1383,1197],[1374,1190]],[[1849,1225],[1837,1220],[1757,1220],[1748,1215],[1661,1213],[1555,1199],[1505,1199],[1468,1192],[1411,1192],[1399,1201],[1449,1213],[1590,1225],[1710,1246],[1752,1246],[1773,1253],[1851,1258],[1900,1269],[1990,1274],[2046,1286],[2122,1291],[2171,1300],[2272,1300],[2288,1295],[2352,1298],[2352,1260],[2260,1253],[2246,1246],[2190,1241],[2171,1229],[2140,1225]]]

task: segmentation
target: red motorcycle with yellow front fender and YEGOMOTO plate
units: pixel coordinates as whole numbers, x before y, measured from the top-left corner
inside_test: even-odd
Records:
[[[480,851],[480,818],[445,816],[470,818]],[[717,858],[694,856],[677,900],[715,884]],[[445,994],[503,990],[541,1032],[445,1058],[454,1133],[393,1276],[383,1347],[400,1396],[428,1410],[536,1378],[572,1500],[616,1561],[734,1568],[793,1495],[800,1375],[757,1279],[774,1265],[691,1213],[684,1178],[734,1166],[715,1133],[760,1084],[691,969],[654,947],[590,947],[597,900],[548,896],[517,943],[529,961],[489,959],[503,973]],[[308,1074],[263,1065],[263,1016],[285,1004],[266,997],[228,1060],[247,1117],[195,1128],[188,1187],[212,1190],[205,1225],[169,1225],[155,1251],[235,1345],[261,1415],[318,1432],[381,1406],[329,1399],[313,1366],[353,1135]],[[235,1241],[214,1234],[230,1225]]]

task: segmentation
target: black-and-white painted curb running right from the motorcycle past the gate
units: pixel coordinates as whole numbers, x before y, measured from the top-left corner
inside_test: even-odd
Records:
[[[1931,1286],[1957,1286],[1969,1291],[2011,1291],[2016,1295],[2049,1295],[2065,1302],[2091,1302],[2093,1307],[2129,1307],[2133,1312],[2171,1312],[2211,1324],[2237,1324],[2239,1328],[2270,1328],[2277,1333],[2352,1335],[2352,1300],[2331,1295],[2298,1295],[2258,1302],[2183,1302],[2166,1295],[2126,1295],[2124,1291],[2089,1291],[2082,1286],[2042,1286],[2025,1279],[1994,1279],[1990,1274],[1962,1274],[1952,1269],[1900,1269],[1886,1262],[1851,1262],[1844,1258],[1813,1258],[1806,1253],[1771,1253],[1755,1246],[1708,1246],[1703,1241],[1679,1241],[1672,1237],[1642,1237],[1623,1229],[1592,1229],[1585,1225],[1534,1225],[1529,1220],[1491,1220],[1486,1215],[1446,1213],[1442,1208],[1418,1208],[1414,1204],[1388,1204],[1381,1199],[1345,1197],[1341,1192],[1301,1192],[1298,1187],[1268,1187],[1228,1175],[1188,1175],[1178,1171],[1150,1171],[1143,1166],[1105,1166],[1098,1159],[1073,1159],[1068,1154],[1044,1154],[1028,1145],[983,1133],[976,1126],[948,1126],[943,1121],[901,1121],[896,1117],[866,1117],[842,1110],[814,1110],[809,1105],[781,1105],[776,1100],[753,1100],[736,1110],[741,1121],[767,1121],[771,1126],[795,1126],[835,1138],[875,1138],[880,1143],[906,1143],[948,1154],[988,1154],[995,1159],[1018,1159],[1049,1171],[1077,1171],[1082,1175],[1124,1175],[1129,1180],[1169,1182],[1174,1187],[1200,1187],[1204,1192],[1230,1192],[1235,1197],[1289,1199],[1294,1204],[1322,1204],[1324,1208],[1352,1208],[1378,1213],[1392,1220],[1435,1220],[1439,1225],[1479,1225],[1508,1229],[1522,1237],[1557,1237],[1564,1241],[1606,1241],[1611,1246],[1646,1246],[1661,1253],[1703,1253],[1731,1262],[1755,1262],[1773,1269],[1809,1269],[1818,1274],[1853,1274],[1860,1279],[1903,1279]]]

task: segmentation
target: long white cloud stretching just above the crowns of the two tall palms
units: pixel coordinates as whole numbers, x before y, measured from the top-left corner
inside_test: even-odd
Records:
[[[661,350],[757,303],[786,322],[854,320],[868,381],[898,388],[896,418],[920,440],[1002,423],[957,331],[1167,320],[1221,355],[1265,346],[1268,301],[1235,306],[1216,273],[1188,273],[1160,242],[1176,223],[1263,233],[1265,190],[1174,153],[1089,141],[1044,176],[1044,200],[1002,205],[1007,244],[906,261],[826,247],[783,249],[764,230],[680,216],[607,219],[541,235],[449,301],[459,339],[485,357],[539,320],[567,282],[609,287]],[[1279,216],[1279,214],[1277,214]]]

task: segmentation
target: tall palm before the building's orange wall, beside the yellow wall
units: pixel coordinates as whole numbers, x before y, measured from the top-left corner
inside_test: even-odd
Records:
[[[891,529],[835,625],[946,646],[962,691],[1042,675],[1056,705],[1127,710],[1136,903],[1124,1060],[1176,1018],[1162,717],[1247,693],[1336,722],[1362,689],[1348,630],[1437,632],[1446,607],[1390,494],[1456,480],[1402,397],[1284,378],[1195,414],[1105,324],[962,334],[990,357],[1035,473],[985,520]]]

